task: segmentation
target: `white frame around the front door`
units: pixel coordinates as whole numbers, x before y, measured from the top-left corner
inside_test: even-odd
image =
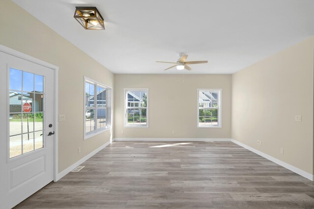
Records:
[[[17,50],[14,50],[12,48],[9,48],[7,46],[0,45],[0,51],[4,52],[6,54],[10,54],[12,56],[24,59],[26,61],[35,63],[37,65],[41,65],[43,67],[49,68],[53,70],[54,74],[54,95],[53,95],[53,100],[54,100],[54,142],[53,142],[53,181],[56,182],[57,175],[58,175],[58,73],[59,73],[59,67],[52,65],[50,63],[47,63],[45,61],[39,60],[35,57],[29,56],[27,54],[24,54],[22,52],[19,52]]]

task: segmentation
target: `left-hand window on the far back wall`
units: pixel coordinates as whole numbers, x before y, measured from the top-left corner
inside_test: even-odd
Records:
[[[148,127],[148,89],[127,89],[126,127]]]

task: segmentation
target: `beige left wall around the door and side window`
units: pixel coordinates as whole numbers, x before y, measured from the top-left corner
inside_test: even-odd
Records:
[[[1,8],[0,44],[59,67],[58,108],[66,116],[58,133],[61,172],[109,141],[110,131],[83,140],[83,76],[113,86],[114,74],[11,0],[1,0]]]

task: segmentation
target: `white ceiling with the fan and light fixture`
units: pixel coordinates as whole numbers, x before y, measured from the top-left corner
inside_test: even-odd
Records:
[[[114,73],[233,73],[314,35],[314,0],[13,0]],[[96,6],[105,30],[84,30],[76,6]],[[49,40],[47,40],[49,41]]]

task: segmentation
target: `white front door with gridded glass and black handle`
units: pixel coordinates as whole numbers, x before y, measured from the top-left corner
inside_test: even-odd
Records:
[[[1,209],[53,181],[53,85],[52,69],[0,51]]]

